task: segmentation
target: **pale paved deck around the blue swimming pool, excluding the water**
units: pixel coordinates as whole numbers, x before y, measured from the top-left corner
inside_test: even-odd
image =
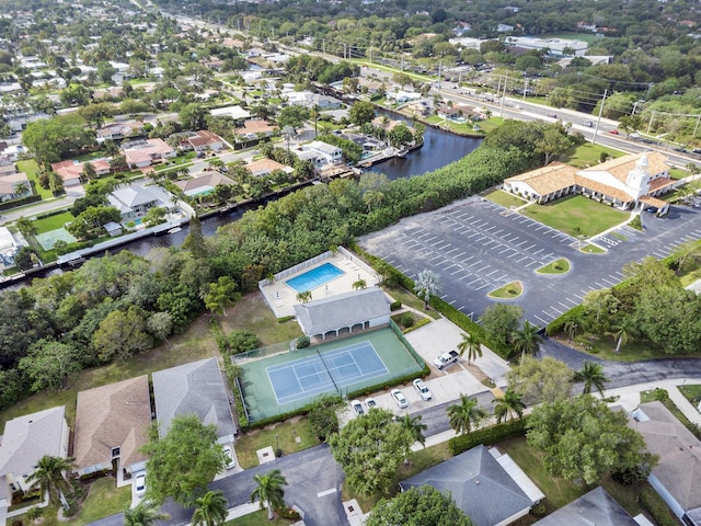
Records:
[[[335,277],[325,285],[321,285],[311,290],[311,298],[321,299],[331,296],[337,296],[340,294],[349,293],[353,290],[353,284],[358,279],[365,279],[368,287],[372,287],[378,284],[378,276],[370,266],[365,262],[359,261],[355,255],[346,255],[342,252],[332,254],[329,258],[317,262],[315,264],[300,270],[295,274],[285,276],[284,278],[276,279],[273,283],[268,283],[261,287],[263,297],[267,305],[273,309],[273,312],[277,318],[285,318],[287,316],[295,316],[295,305],[299,304],[297,300],[297,290],[287,285],[288,279],[304,274],[306,272],[321,266],[324,263],[331,263],[341,271],[344,272],[342,276]]]

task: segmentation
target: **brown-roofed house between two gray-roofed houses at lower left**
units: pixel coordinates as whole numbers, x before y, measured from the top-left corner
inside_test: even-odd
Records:
[[[78,393],[73,456],[79,476],[142,469],[151,423],[146,375]]]

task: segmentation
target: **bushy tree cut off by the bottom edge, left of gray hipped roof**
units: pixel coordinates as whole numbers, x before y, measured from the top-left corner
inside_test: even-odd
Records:
[[[372,508],[366,526],[472,526],[449,494],[425,484],[412,487],[393,499],[383,499]]]

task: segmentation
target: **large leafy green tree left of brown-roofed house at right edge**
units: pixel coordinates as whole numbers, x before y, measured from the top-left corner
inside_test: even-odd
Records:
[[[528,419],[526,439],[543,451],[545,470],[575,484],[595,484],[619,471],[650,473],[656,457],[628,426],[624,411],[613,412],[590,395],[543,403]]]

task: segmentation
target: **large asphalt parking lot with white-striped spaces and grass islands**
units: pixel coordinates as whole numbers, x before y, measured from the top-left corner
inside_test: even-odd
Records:
[[[423,270],[440,276],[441,297],[478,319],[496,301],[519,305],[532,323],[544,327],[582,302],[591,290],[623,278],[622,267],[646,255],[664,258],[681,243],[701,238],[701,215],[673,206],[658,218],[643,213],[644,231],[621,227],[594,242],[604,254],[578,251],[579,241],[507,208],[470,197],[439,210],[402,219],[359,244],[412,278]],[[560,258],[572,270],[563,275],[535,271]],[[519,279],[517,299],[491,299],[487,293]]]

